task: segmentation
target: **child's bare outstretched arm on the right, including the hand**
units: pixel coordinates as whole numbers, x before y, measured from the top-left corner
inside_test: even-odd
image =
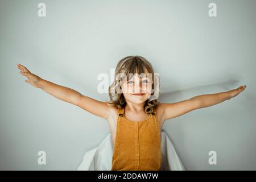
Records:
[[[230,98],[237,96],[240,92],[245,90],[245,88],[246,86],[240,86],[239,88],[229,90],[228,92],[205,94],[176,103],[160,104],[159,106],[163,109],[163,121],[178,117],[195,109],[209,107],[219,104],[225,100],[230,100]]]

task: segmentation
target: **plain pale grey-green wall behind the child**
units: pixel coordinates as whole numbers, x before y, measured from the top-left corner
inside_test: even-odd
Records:
[[[38,4],[46,3],[46,17]],[[209,3],[217,17],[208,15]],[[16,64],[97,100],[100,73],[141,55],[159,73],[160,102],[246,90],[166,121],[187,170],[256,169],[256,1],[0,1],[0,169],[76,170],[108,123],[24,82]],[[38,165],[38,151],[47,164]],[[209,165],[209,151],[217,164]]]

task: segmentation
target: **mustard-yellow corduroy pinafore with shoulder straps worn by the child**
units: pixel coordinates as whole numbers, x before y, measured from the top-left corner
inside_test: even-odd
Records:
[[[134,122],[118,109],[112,171],[159,171],[162,163],[158,119],[154,112]]]

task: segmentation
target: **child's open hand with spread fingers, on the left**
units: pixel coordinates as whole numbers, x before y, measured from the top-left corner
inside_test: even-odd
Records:
[[[28,84],[31,84],[32,86],[35,86],[36,88],[41,88],[39,81],[42,80],[42,78],[31,73],[26,67],[24,67],[21,64],[18,64],[18,68],[21,70],[20,74],[27,77],[27,80],[25,80],[25,81]]]

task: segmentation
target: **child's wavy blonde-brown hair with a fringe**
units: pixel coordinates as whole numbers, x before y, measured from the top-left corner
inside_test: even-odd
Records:
[[[114,105],[119,109],[122,109],[126,105],[125,96],[123,96],[123,93],[118,93],[117,89],[120,84],[120,80],[117,78],[119,74],[125,75],[127,78],[129,76],[129,73],[135,73],[138,71],[138,74],[145,73],[145,71],[148,71],[148,73],[152,74],[152,89],[155,88],[155,71],[149,61],[147,61],[142,56],[127,56],[123,59],[119,60],[117,63],[117,67],[115,68],[115,80],[113,81],[112,85],[109,86],[109,97],[110,101],[108,101],[109,105]],[[159,80],[159,77],[158,77]],[[160,87],[160,80],[159,80],[159,87]],[[114,90],[112,92],[112,90]],[[155,92],[155,89],[154,89]],[[154,94],[153,92],[153,94]],[[151,94],[152,95],[152,94]],[[147,100],[144,109],[146,113],[152,113],[156,107],[156,105],[159,104],[159,101],[157,99],[155,100]]]

